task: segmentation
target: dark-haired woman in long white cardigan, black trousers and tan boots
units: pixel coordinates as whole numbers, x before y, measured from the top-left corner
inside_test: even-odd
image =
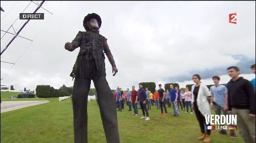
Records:
[[[206,143],[211,142],[211,130],[207,129],[205,134],[205,115],[211,115],[210,104],[207,100],[207,97],[211,96],[209,89],[206,85],[203,85],[200,80],[201,77],[199,74],[194,74],[192,80],[195,85],[192,86],[192,108],[194,109],[195,116],[200,125],[201,135],[198,137],[198,140],[204,140]]]

